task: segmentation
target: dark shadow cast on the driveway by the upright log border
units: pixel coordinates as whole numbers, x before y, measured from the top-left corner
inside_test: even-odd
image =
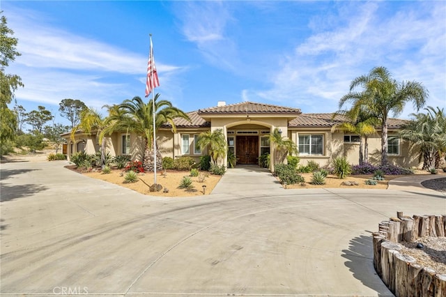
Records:
[[[342,250],[342,252],[342,257],[347,259],[344,265],[350,269],[353,277],[365,286],[374,289],[378,296],[394,296],[375,271],[371,236],[361,235],[351,239],[348,250]]]

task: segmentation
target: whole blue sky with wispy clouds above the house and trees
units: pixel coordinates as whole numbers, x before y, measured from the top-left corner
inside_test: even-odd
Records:
[[[385,66],[446,106],[445,1],[1,1],[22,56],[27,111],[59,116],[144,97],[149,33],[162,99],[190,112],[264,102],[334,112],[352,79]],[[406,106],[399,117],[415,112]]]

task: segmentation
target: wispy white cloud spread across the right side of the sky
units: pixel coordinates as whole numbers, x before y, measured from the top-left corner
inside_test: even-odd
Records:
[[[431,93],[427,105],[445,106],[446,6],[413,4],[390,17],[381,15],[386,3],[341,7],[328,17],[338,25],[298,45],[272,77],[272,88],[257,95],[294,102],[303,112],[333,112],[352,79],[385,66],[399,81],[422,82]],[[408,106],[401,116],[410,112]]]

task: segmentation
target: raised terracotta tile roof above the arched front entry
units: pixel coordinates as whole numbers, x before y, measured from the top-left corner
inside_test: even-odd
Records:
[[[300,109],[256,102],[241,102],[231,105],[199,109],[199,115],[208,114],[301,114]]]

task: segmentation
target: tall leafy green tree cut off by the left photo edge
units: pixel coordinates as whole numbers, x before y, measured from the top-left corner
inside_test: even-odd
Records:
[[[3,14],[3,11],[0,11]],[[15,50],[17,38],[13,38],[14,31],[7,26],[6,17],[0,17],[0,154],[3,155],[3,146],[14,139],[17,131],[17,118],[15,113],[8,108],[8,104],[14,98],[14,92],[19,86],[23,86],[22,79],[18,75],[5,73],[5,69],[11,61],[20,53]]]

